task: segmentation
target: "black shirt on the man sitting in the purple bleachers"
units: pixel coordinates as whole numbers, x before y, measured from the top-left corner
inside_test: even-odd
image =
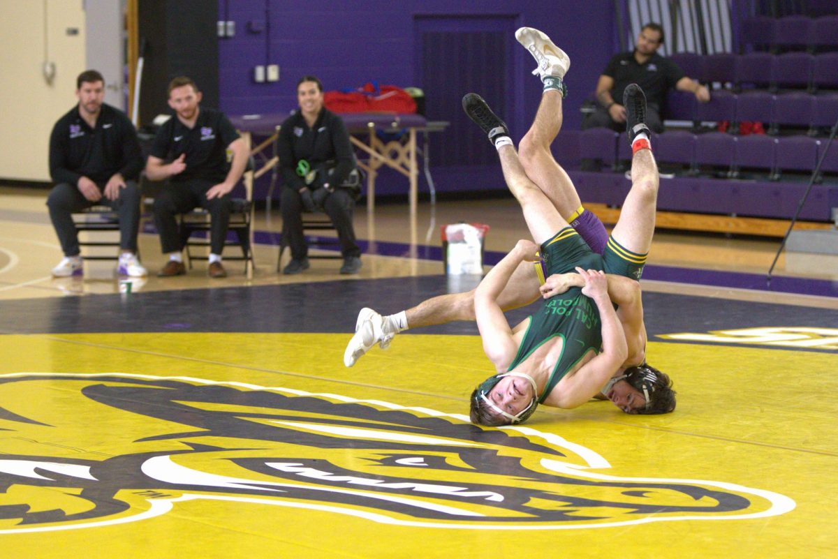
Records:
[[[658,107],[664,105],[667,92],[685,76],[678,64],[660,54],[652,54],[644,64],[638,64],[634,52],[615,54],[603,74],[613,78],[611,96],[619,104],[623,104],[623,90],[629,84],[637,84],[646,94],[646,101]]]

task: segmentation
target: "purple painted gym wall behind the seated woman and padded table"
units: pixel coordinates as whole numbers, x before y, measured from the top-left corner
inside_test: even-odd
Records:
[[[499,108],[516,140],[524,135],[541,83],[530,75],[535,61],[515,42],[515,28],[544,30],[571,58],[566,141],[560,135],[554,146],[561,162],[577,159],[576,142],[567,140],[616,49],[610,0],[219,0],[219,18],[235,22],[235,36],[219,38],[222,110],[287,113],[297,106],[303,74],[317,75],[326,90],[368,81],[419,87],[428,119],[451,122],[430,138],[441,193],[505,190],[494,148],[468,123],[460,100],[468,89],[477,91]],[[279,81],[256,83],[257,64],[278,64]],[[406,180],[392,172],[376,184],[376,194],[405,192]],[[420,192],[427,192],[423,178]]]

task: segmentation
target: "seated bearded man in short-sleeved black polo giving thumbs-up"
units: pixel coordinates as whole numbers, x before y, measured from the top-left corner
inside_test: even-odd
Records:
[[[200,107],[201,93],[190,78],[168,85],[168,106],[175,115],[160,127],[148,156],[146,174],[153,181],[168,179],[168,187],[154,199],[154,223],[168,263],[158,276],[186,273],[178,231],[178,213],[198,206],[209,211],[209,277],[224,278],[221,252],[230,223],[230,191],[247,165],[247,146],[227,117]],[[232,161],[227,162],[227,151]],[[170,163],[166,163],[171,159]]]

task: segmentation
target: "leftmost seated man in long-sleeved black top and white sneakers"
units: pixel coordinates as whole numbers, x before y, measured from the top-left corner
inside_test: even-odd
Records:
[[[86,70],[76,79],[79,104],[62,116],[49,136],[49,174],[55,187],[47,206],[64,258],[52,270],[59,277],[82,273],[79,234],[72,214],[94,205],[113,208],[119,217],[121,252],[116,271],[141,277],[137,259],[142,152],[137,131],[121,110],[106,105],[105,79]]]

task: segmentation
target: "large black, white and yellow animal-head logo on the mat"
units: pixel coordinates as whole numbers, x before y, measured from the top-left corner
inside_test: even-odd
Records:
[[[60,409],[31,405],[56,395]],[[536,428],[239,382],[9,374],[0,428],[0,534],[142,522],[190,500],[515,530],[794,509],[784,495],[728,482],[609,474],[596,451]]]

